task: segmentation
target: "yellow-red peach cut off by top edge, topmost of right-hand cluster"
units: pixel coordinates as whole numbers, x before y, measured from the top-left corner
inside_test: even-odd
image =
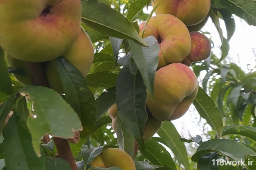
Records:
[[[210,0],[152,0],[156,14],[171,14],[179,18],[185,25],[201,22],[210,10]]]

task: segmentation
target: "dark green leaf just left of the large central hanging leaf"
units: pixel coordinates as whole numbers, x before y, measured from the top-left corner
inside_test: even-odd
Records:
[[[103,92],[96,99],[96,117],[99,119],[108,109],[115,103],[116,92],[115,87],[111,87]]]

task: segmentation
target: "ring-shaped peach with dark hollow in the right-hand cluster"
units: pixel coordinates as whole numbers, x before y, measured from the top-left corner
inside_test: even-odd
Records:
[[[142,36],[145,22],[140,25]],[[150,18],[143,38],[154,36],[160,46],[158,69],[170,63],[180,63],[189,53],[191,39],[182,21],[170,14]]]

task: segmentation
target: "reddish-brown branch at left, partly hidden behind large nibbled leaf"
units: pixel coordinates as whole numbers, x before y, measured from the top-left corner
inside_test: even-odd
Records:
[[[49,87],[44,71],[44,63],[28,62],[28,68],[29,73],[32,76],[33,85]],[[48,143],[48,141],[50,142],[49,135],[44,136],[43,141],[45,143]],[[76,162],[71,152],[68,139],[54,137],[54,142],[58,151],[58,157],[65,159],[70,164],[71,170],[77,170]]]

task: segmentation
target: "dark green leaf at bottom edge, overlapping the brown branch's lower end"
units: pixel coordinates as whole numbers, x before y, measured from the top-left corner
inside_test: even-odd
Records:
[[[71,170],[71,167],[69,163],[62,158],[46,157],[45,170]]]

